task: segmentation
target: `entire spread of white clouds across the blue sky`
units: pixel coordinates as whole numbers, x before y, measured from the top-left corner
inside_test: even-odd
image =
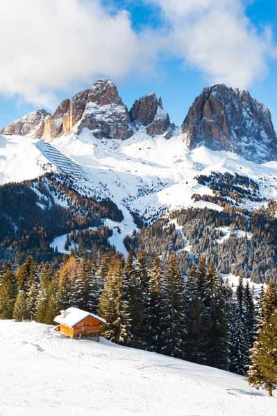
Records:
[[[269,28],[258,32],[246,18],[243,0],[141,1],[158,4],[162,29],[135,33],[127,12],[111,14],[101,0],[1,0],[0,94],[55,107],[58,89],[98,76],[155,75],[160,52],[208,82],[249,87],[266,76],[276,49]]]

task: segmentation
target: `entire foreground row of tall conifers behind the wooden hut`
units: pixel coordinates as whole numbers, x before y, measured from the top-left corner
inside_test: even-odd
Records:
[[[0,318],[53,324],[76,306],[108,322],[102,335],[146,349],[248,376],[272,394],[277,383],[277,294],[272,282],[255,304],[240,277],[235,296],[212,261],[201,258],[186,279],[178,257],[162,268],[145,252],[100,261],[72,251],[58,270],[28,257],[17,275],[6,262],[0,275]]]

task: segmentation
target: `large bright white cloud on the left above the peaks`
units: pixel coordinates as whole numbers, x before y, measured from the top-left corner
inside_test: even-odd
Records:
[[[56,89],[99,74],[153,73],[156,37],[145,36],[97,0],[1,0],[0,93],[53,107]]]

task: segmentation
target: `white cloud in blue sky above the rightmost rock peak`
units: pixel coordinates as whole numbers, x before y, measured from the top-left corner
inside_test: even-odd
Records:
[[[209,82],[249,87],[267,75],[276,57],[271,30],[251,24],[242,0],[151,1],[169,24],[171,53]]]

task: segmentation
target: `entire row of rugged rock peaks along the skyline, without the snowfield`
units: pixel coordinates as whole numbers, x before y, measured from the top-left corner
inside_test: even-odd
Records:
[[[125,140],[140,126],[151,136],[165,135],[167,139],[176,128],[155,93],[135,100],[128,112],[115,85],[100,79],[71,101],[62,101],[53,114],[37,110],[13,121],[0,134],[30,135],[51,141],[60,135],[79,135],[87,128],[98,139]],[[205,87],[188,110],[181,132],[190,149],[205,145],[256,163],[277,160],[277,136],[271,114],[245,89],[224,84]]]

